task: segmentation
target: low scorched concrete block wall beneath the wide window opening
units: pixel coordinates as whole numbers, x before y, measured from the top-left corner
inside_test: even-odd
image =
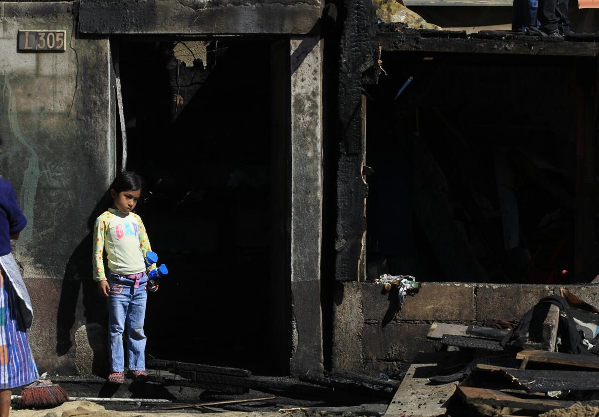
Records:
[[[540,298],[560,286],[479,283],[422,283],[399,309],[397,292],[375,283],[339,283],[333,306],[332,367],[376,376],[405,371],[419,352],[434,352],[426,339],[433,322],[482,324],[519,320]],[[599,286],[564,286],[599,306]]]

